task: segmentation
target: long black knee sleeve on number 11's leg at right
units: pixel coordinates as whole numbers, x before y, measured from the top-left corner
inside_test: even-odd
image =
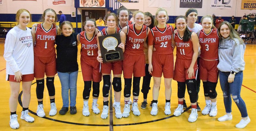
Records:
[[[188,88],[190,102],[195,103],[197,101],[196,79],[187,79],[186,84]]]

